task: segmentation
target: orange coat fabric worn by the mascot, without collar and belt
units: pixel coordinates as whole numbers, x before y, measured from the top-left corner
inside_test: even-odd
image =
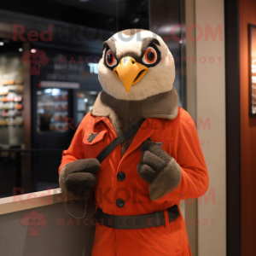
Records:
[[[87,142],[90,132],[99,133],[97,140],[92,143]],[[116,133],[108,118],[86,114],[70,147],[63,152],[59,172],[62,166],[73,160],[96,158],[115,137]],[[182,170],[177,189],[158,201],[149,199],[148,183],[137,173],[137,164],[141,161],[139,146],[148,137],[154,142],[163,143],[162,148],[177,160]],[[117,179],[118,172],[125,172],[124,181]],[[115,148],[102,161],[97,175],[98,184],[94,188],[96,207],[119,216],[164,211],[175,204],[179,207],[180,200],[204,195],[209,183],[195,124],[183,108],[179,108],[177,118],[173,120],[146,119],[125,155],[121,158],[121,146]],[[117,199],[123,199],[125,206],[117,207]],[[180,214],[171,224],[146,229],[114,230],[96,224],[92,255],[190,256],[191,252],[183,216]]]

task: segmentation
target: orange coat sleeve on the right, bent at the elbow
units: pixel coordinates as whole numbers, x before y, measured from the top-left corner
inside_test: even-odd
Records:
[[[201,151],[195,123],[183,109],[177,120],[172,157],[181,168],[182,178],[177,189],[158,201],[179,201],[204,195],[209,185],[207,164]]]

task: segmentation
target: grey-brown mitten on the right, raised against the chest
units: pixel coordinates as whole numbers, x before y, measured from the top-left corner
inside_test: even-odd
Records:
[[[180,166],[159,144],[146,141],[141,151],[142,162],[137,165],[137,172],[149,183],[150,199],[158,200],[177,188],[182,177]]]

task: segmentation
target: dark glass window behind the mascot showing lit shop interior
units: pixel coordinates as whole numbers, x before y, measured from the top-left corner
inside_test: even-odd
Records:
[[[174,86],[184,107],[181,52],[185,44],[171,37],[172,26],[183,23],[181,1],[166,1],[166,5],[145,0],[47,3],[50,9],[46,3],[46,8],[38,9],[30,3],[1,5],[5,26],[0,33],[6,38],[0,38],[0,166],[4,171],[0,197],[12,195],[15,186],[24,187],[24,193],[58,186],[61,153],[102,90],[97,65],[103,42],[115,32],[143,28],[166,41],[175,60],[181,60],[176,62]],[[18,31],[24,27],[24,39],[13,31],[13,24],[21,27]],[[30,37],[31,31],[38,36]],[[178,30],[177,37],[181,37]],[[24,61],[27,53],[40,55]],[[38,86],[42,81],[77,87],[43,88]]]

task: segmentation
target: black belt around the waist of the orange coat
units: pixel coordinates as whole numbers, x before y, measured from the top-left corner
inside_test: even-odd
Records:
[[[172,223],[178,215],[177,205],[166,209],[169,215],[169,222]],[[160,227],[166,224],[164,212],[152,212],[143,215],[131,215],[131,216],[116,216],[102,212],[102,209],[97,208],[97,211],[93,217],[98,224],[102,224],[108,228],[118,230],[134,230],[145,229],[151,227]]]

